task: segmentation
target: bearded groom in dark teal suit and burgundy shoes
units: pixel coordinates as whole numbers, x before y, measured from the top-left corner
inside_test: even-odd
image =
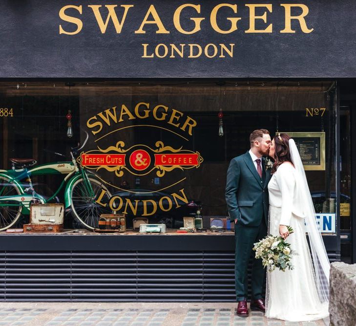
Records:
[[[230,220],[235,223],[235,290],[236,314],[249,315],[247,308],[247,267],[253,243],[267,236],[268,182],[271,167],[266,159],[270,152],[271,136],[266,129],[252,131],[250,151],[234,157],[228,169],[226,203]],[[265,271],[262,260],[254,260],[251,277],[251,309],[265,312],[263,283]]]

